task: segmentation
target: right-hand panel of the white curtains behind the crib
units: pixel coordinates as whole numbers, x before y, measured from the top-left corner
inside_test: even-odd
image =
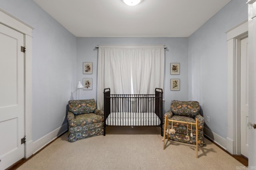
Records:
[[[131,49],[134,94],[154,94],[164,86],[164,47]]]

